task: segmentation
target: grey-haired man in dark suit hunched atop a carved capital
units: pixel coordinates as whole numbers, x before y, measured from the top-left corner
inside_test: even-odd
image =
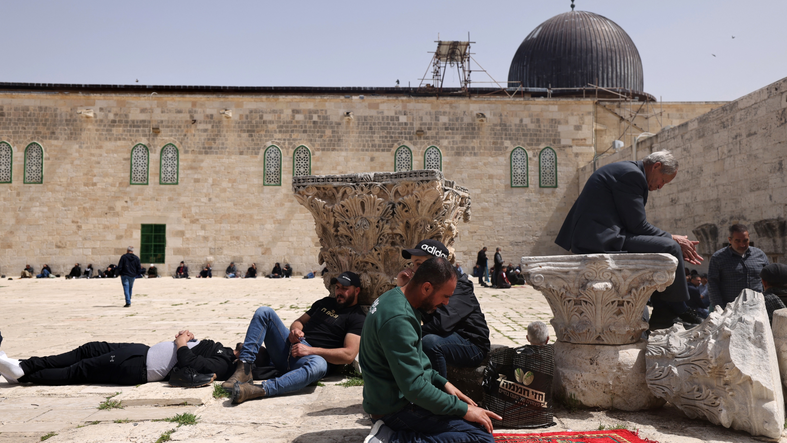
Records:
[[[683,278],[683,260],[691,264],[703,260],[696,253],[699,242],[662,231],[645,217],[648,191],[660,190],[677,174],[678,161],[666,150],[642,161],[619,161],[599,168],[588,179],[555,240],[577,254],[668,253],[677,258],[674,282],[651,296],[651,330],[671,327],[678,321],[702,321],[685,304],[689,288]]]

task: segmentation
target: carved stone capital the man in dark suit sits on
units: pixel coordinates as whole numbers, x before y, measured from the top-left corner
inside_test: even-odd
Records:
[[[637,342],[650,294],[669,286],[677,267],[670,254],[522,257],[525,280],[552,308],[556,338],[589,345]]]

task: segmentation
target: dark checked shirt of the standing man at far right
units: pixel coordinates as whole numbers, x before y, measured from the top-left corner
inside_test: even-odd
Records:
[[[708,294],[711,296],[711,310],[715,305],[722,308],[734,301],[742,290],[750,289],[763,292],[763,282],[759,278],[770,262],[760,249],[749,246],[743,257],[730,246],[719,249],[711,257],[708,266]]]

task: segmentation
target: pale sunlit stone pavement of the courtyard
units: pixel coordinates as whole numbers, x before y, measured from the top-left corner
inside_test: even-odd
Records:
[[[320,279],[142,279],[134,289],[131,308],[122,308],[120,279],[0,281],[2,350],[26,357],[62,353],[97,340],[153,345],[171,340],[184,328],[198,338],[234,346],[258,306],[272,306],[289,325],[327,294]],[[527,323],[548,323],[551,318],[545,298],[530,286],[476,289],[495,344],[525,344]],[[360,405],[362,388],[335,386],[340,381],[327,378],[325,386],[232,405],[227,399],[214,399],[209,387],[20,386],[0,378],[0,443],[39,441],[50,432],[57,433],[48,440],[53,443],[153,443],[173,429],[172,441],[363,441],[371,422]],[[113,400],[124,408],[97,408],[117,392]],[[198,415],[198,424],[176,427],[153,421],[182,412]],[[557,426],[548,431],[626,426],[661,443],[756,441],[745,433],[686,419],[669,405],[647,412],[557,408],[555,421]]]

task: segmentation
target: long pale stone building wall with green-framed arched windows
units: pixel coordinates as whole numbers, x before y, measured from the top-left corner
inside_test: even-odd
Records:
[[[78,113],[86,109],[93,116]],[[401,145],[423,168],[424,151],[438,146],[445,178],[471,193],[473,219],[456,239],[467,268],[482,245],[501,246],[507,262],[561,253],[554,237],[577,196],[578,168],[593,158],[593,100],[6,90],[0,141],[13,146],[13,183],[0,184],[4,274],[26,263],[105,268],[127,245],[139,248],[141,223],[167,224],[164,273],[180,260],[193,273],[210,260],[220,276],[231,260],[244,270],[256,262],[260,273],[277,261],[296,274],[318,269],[312,216],[290,190],[301,145],[314,175],[392,171]],[[43,147],[42,184],[23,183],[30,142]],[[150,149],[146,186],[129,184],[137,143]],[[177,185],[159,184],[167,143],[179,149]],[[272,144],[283,152],[281,186],[262,183]],[[527,150],[529,187],[510,186],[515,146]],[[557,153],[556,188],[538,186],[545,146]]]

